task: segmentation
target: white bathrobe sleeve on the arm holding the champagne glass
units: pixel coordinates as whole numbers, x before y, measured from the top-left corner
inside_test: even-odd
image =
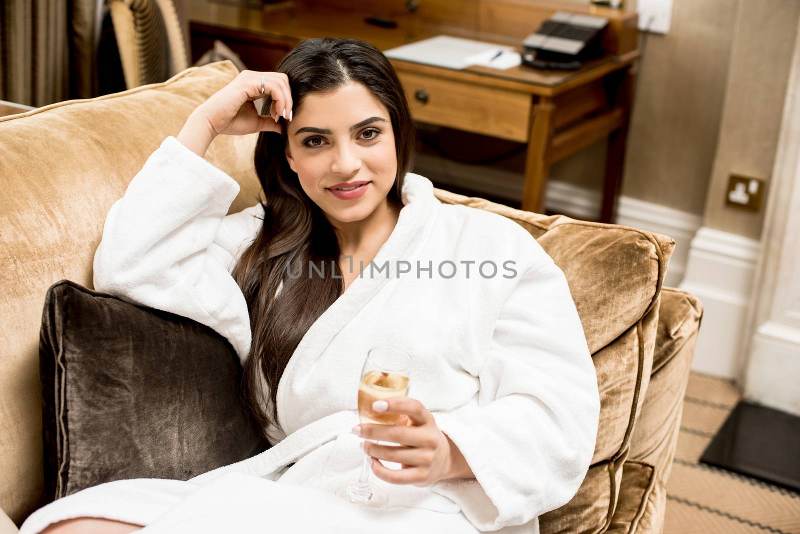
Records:
[[[430,489],[486,531],[566,504],[586,476],[598,430],[597,377],[566,278],[538,243],[528,246],[542,259],[498,315],[478,405],[435,416],[475,478]]]

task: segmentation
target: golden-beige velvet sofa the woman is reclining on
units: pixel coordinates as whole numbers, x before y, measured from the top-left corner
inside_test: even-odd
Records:
[[[46,289],[63,278],[91,287],[110,206],[162,139],[236,74],[232,63],[217,62],[161,84],[0,118],[0,508],[13,520],[0,514],[0,533],[16,532],[14,523],[45,501],[38,335]],[[206,155],[242,185],[231,213],[258,193],[254,141],[218,137]],[[597,448],[582,488],[542,516],[542,532],[661,532],[702,316],[691,294],[662,288],[674,241],[436,193],[533,233],[564,270],[582,317],[602,397]]]

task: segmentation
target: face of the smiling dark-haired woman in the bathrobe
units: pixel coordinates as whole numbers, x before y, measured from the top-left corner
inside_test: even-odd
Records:
[[[360,221],[386,202],[397,174],[394,130],[386,106],[364,86],[308,94],[285,124],[286,160],[328,217]],[[331,189],[343,182],[368,183],[351,193]]]

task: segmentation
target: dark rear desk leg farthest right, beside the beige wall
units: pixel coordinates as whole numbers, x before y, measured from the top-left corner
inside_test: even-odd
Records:
[[[622,187],[622,168],[625,163],[625,145],[633,101],[634,74],[630,67],[623,71],[618,82],[615,101],[625,109],[622,125],[608,136],[606,144],[606,177],[603,179],[600,222],[614,223],[617,217],[619,190]]]

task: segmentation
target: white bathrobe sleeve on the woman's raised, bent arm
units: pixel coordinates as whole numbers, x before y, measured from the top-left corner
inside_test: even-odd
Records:
[[[106,216],[94,289],[210,326],[245,361],[250,317],[230,270],[263,209],[226,216],[238,192],[232,177],[166,137]]]

